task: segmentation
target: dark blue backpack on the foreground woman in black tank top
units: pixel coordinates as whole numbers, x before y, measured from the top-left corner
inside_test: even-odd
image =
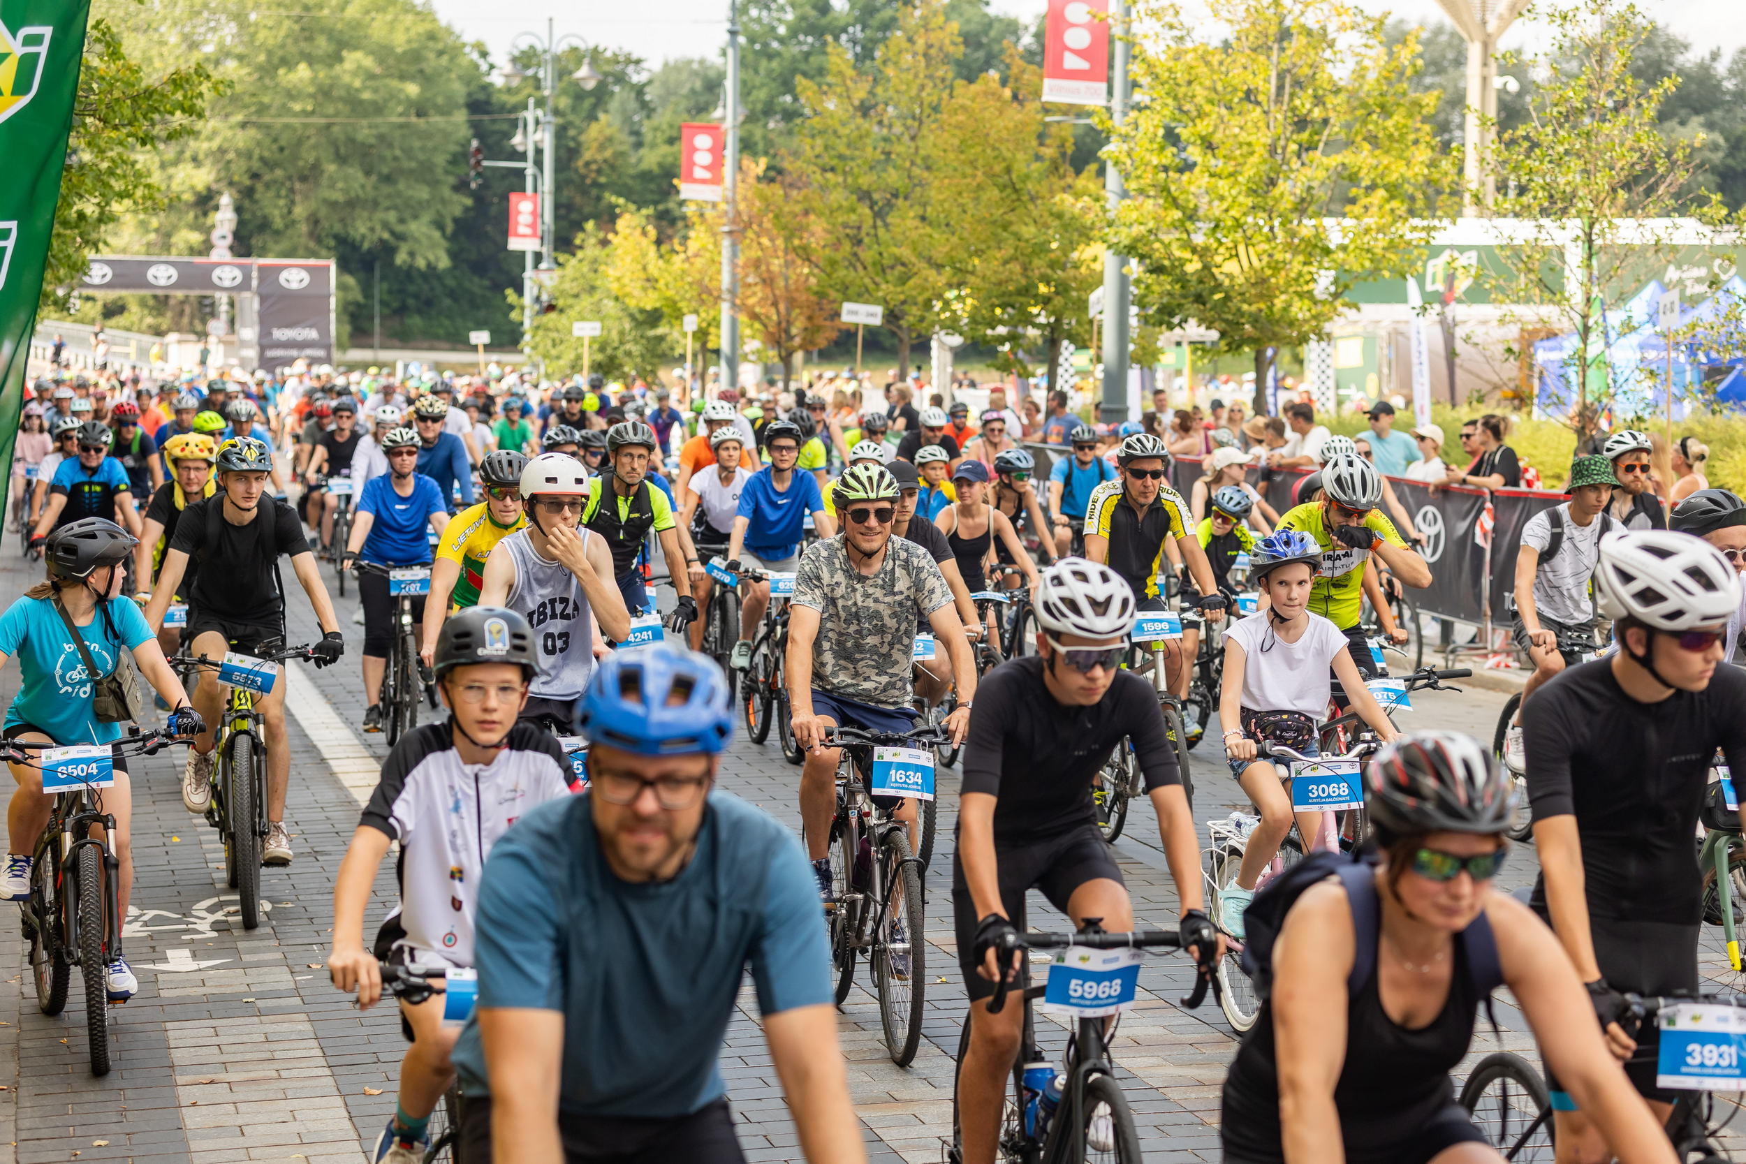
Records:
[[[1243,974],[1255,983],[1255,991],[1268,998],[1273,993],[1273,942],[1285,928],[1285,914],[1297,904],[1306,888],[1329,876],[1337,876],[1346,887],[1351,906],[1353,956],[1346,976],[1346,995],[1355,998],[1376,974],[1376,941],[1381,930],[1383,907],[1376,897],[1376,866],[1348,853],[1315,852],[1268,881],[1255,894],[1243,914]],[[1498,962],[1498,942],[1491,921],[1481,913],[1461,930],[1467,951],[1467,977],[1474,991],[1491,1007],[1491,991],[1503,984],[1503,965]]]

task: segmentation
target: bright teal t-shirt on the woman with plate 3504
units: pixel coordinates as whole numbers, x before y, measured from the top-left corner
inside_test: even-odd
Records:
[[[110,625],[115,635],[110,635]],[[100,609],[91,625],[79,630],[91,661],[103,672],[98,679],[113,674],[124,649],[131,651],[152,637],[131,599],[110,599],[108,621]],[[93,677],[52,600],[24,597],[0,614],[0,654],[16,660],[19,668],[19,691],[5,710],[7,728],[42,728],[56,743],[110,743],[120,738],[122,724],[103,724],[91,714]]]

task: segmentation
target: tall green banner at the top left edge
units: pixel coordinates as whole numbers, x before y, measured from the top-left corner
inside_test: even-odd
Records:
[[[0,513],[89,12],[89,0],[0,0]]]

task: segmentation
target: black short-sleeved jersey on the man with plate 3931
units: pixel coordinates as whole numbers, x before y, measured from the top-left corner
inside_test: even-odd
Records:
[[[1746,784],[1746,670],[1718,667],[1702,691],[1638,703],[1612,660],[1570,667],[1523,703],[1523,733],[1533,818],[1577,817],[1589,914],[1697,925],[1692,838],[1718,747],[1734,787]],[[1543,914],[1543,880],[1533,900]]]

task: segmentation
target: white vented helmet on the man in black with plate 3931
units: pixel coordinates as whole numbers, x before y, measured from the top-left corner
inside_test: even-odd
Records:
[[[1741,583],[1702,537],[1643,529],[1601,537],[1594,599],[1605,618],[1680,632],[1725,623],[1741,606]]]

